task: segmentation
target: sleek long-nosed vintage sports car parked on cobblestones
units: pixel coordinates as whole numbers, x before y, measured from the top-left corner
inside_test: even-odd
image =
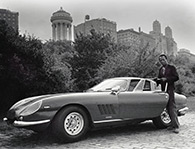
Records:
[[[178,115],[188,107],[175,93]],[[168,94],[152,79],[118,77],[102,81],[81,93],[60,93],[23,99],[7,112],[4,121],[36,132],[51,131],[65,142],[82,139],[90,130],[152,120],[157,128],[170,126]]]

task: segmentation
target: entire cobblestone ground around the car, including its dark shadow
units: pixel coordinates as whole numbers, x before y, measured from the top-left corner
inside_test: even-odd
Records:
[[[195,103],[194,99],[193,104]],[[0,148],[195,149],[194,109],[195,106],[185,116],[179,117],[179,134],[175,134],[166,129],[157,129],[152,121],[146,121],[136,126],[92,131],[83,140],[68,144],[58,143],[47,135],[0,125]]]

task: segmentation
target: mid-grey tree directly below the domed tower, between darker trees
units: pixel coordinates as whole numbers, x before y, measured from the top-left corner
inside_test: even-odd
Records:
[[[72,90],[71,65],[73,47],[69,41],[48,41],[44,44],[44,69],[50,80],[51,92]]]

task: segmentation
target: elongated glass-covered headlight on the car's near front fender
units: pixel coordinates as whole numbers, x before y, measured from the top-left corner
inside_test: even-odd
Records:
[[[21,116],[27,116],[27,115],[31,115],[33,113],[35,113],[36,111],[38,111],[40,109],[42,105],[42,100],[37,101],[33,104],[30,104],[29,106],[27,106],[24,110],[22,110],[20,112]]]

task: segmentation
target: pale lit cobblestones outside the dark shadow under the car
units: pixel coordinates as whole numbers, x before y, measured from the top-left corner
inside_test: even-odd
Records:
[[[195,112],[179,118],[180,132],[156,129],[151,121],[135,128],[124,127],[89,135],[86,140],[67,144],[79,149],[195,149]],[[60,148],[65,147],[58,146]]]

